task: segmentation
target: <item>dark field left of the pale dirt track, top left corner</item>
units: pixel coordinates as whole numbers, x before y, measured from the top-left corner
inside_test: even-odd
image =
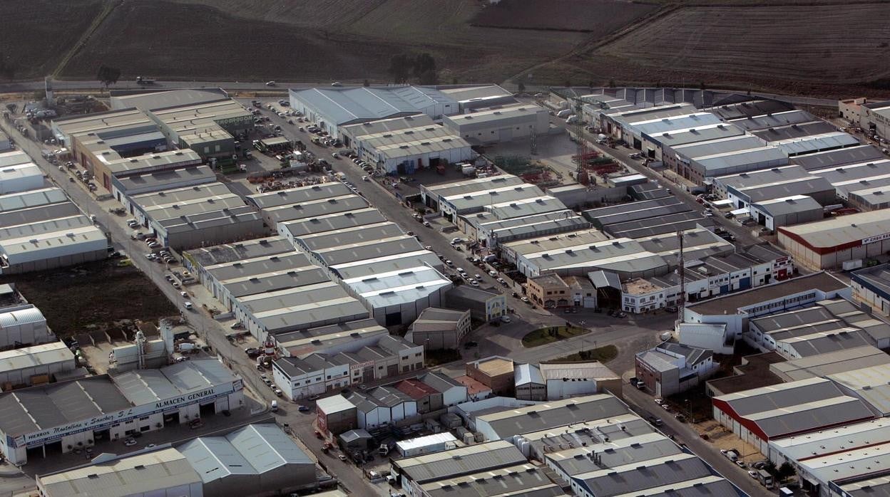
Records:
[[[14,78],[48,76],[101,11],[101,0],[4,0],[0,2],[0,56]],[[95,71],[91,76],[95,76]]]

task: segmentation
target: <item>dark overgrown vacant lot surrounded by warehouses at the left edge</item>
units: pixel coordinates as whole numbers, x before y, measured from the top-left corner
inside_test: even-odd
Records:
[[[100,329],[119,319],[158,321],[177,314],[160,289],[133,266],[97,261],[74,268],[0,277],[14,283],[43,312],[54,333],[66,337],[87,326]]]

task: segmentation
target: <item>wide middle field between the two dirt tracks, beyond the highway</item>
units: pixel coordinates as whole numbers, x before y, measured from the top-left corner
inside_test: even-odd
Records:
[[[196,80],[385,82],[393,54],[430,52],[444,83],[453,78],[500,81],[568,52],[584,39],[580,33],[473,28],[466,20],[477,12],[478,3],[466,0],[376,0],[362,2],[358,9],[340,0],[281,4],[126,2],[70,60],[63,76],[93,77],[104,64],[121,68],[122,79],[148,74]],[[263,12],[263,5],[279,16]],[[302,12],[307,15],[301,17]],[[468,57],[471,51],[473,57]]]

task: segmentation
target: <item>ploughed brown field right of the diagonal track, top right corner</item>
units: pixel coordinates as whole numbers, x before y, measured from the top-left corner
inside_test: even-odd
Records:
[[[564,60],[554,72],[619,84],[851,92],[890,76],[887,9],[883,3],[686,7]]]

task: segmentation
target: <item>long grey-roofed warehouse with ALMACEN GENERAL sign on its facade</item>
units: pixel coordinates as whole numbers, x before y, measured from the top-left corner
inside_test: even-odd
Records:
[[[244,404],[241,380],[214,359],[17,389],[0,395],[6,460],[69,453],[97,440],[187,423]]]

